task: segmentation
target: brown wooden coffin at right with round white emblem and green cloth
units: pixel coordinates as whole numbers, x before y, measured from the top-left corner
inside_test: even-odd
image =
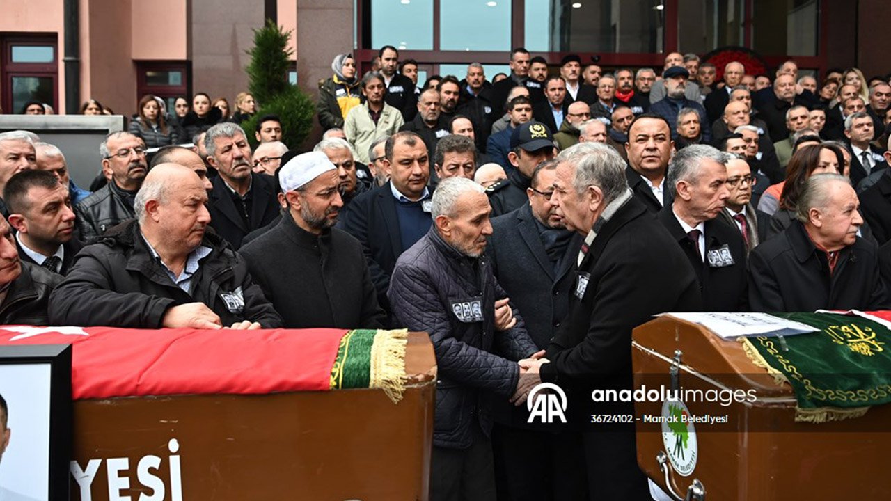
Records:
[[[889,327],[891,312],[859,311],[641,325],[638,464],[670,498],[891,499]]]

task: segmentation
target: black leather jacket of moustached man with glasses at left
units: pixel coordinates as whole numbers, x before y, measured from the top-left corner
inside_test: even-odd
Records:
[[[80,238],[93,243],[109,228],[135,216],[135,193],[125,192],[112,181],[96,190],[74,208]]]

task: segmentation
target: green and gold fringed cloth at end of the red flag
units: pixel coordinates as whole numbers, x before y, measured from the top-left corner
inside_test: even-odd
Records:
[[[405,329],[348,331],[331,366],[331,390],[375,388],[398,402],[405,391],[407,337]]]

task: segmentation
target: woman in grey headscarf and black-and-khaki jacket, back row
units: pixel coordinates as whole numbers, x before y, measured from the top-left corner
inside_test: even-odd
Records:
[[[331,78],[319,81],[316,106],[319,123],[325,130],[343,127],[343,119],[360,103],[361,95],[356,81],[356,59],[351,54],[338,54],[331,62],[331,70],[334,71]]]

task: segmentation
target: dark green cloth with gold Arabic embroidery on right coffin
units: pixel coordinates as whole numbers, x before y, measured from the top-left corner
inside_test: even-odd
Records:
[[[884,325],[861,316],[775,316],[820,329],[787,336],[783,338],[786,346],[775,337],[744,341],[756,364],[782,374],[795,390],[797,421],[855,417],[871,406],[891,402],[891,331]]]

